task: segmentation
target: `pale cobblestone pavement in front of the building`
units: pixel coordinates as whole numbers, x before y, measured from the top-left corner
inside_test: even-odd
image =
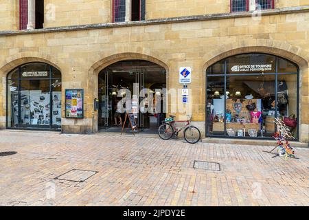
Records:
[[[0,206],[308,206],[309,148],[271,148],[0,131]]]

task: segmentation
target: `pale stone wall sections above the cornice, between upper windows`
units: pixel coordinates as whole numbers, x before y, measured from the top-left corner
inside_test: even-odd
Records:
[[[45,28],[112,21],[112,0],[45,0],[44,4]],[[275,0],[275,8],[299,5],[309,5],[309,0]],[[229,11],[229,0],[146,0],[146,20]],[[0,21],[0,31],[19,29],[19,0],[0,0]]]

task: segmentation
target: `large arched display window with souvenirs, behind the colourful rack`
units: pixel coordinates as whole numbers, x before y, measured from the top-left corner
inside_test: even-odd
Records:
[[[298,137],[298,67],[270,54],[239,54],[207,69],[207,136],[272,137],[274,119]]]

